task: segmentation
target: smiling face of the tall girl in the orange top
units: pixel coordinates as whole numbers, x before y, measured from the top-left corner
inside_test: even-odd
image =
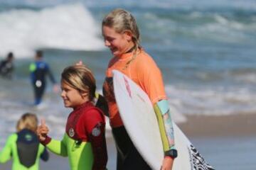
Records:
[[[105,46],[109,47],[115,57],[120,57],[134,46],[132,42],[132,34],[129,31],[117,33],[114,28],[108,26],[102,27],[102,36]]]

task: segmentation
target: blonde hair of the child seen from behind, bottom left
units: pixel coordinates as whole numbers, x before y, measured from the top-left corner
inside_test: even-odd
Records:
[[[16,125],[17,132],[23,130],[24,128],[36,132],[38,126],[38,118],[34,113],[25,113],[21,115]]]

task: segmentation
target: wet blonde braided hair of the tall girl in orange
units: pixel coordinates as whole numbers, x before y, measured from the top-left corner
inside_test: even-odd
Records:
[[[135,49],[140,48],[139,28],[134,16],[122,8],[116,8],[105,16],[102,20],[102,27],[107,26],[113,28],[117,33],[124,33],[128,30],[132,33],[132,42]]]

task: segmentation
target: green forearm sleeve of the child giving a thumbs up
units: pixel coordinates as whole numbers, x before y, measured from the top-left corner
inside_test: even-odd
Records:
[[[53,152],[54,154],[58,154],[63,157],[68,157],[65,136],[63,137],[63,140],[50,140],[46,147],[50,150],[50,152]]]

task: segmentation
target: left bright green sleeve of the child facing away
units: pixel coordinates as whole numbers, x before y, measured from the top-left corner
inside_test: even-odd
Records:
[[[11,144],[14,143],[16,141],[16,139],[17,139],[16,134],[13,134],[8,137],[8,139],[6,141],[6,145],[0,152],[0,163],[1,164],[5,163],[5,162],[9,161],[9,159],[11,159]]]

